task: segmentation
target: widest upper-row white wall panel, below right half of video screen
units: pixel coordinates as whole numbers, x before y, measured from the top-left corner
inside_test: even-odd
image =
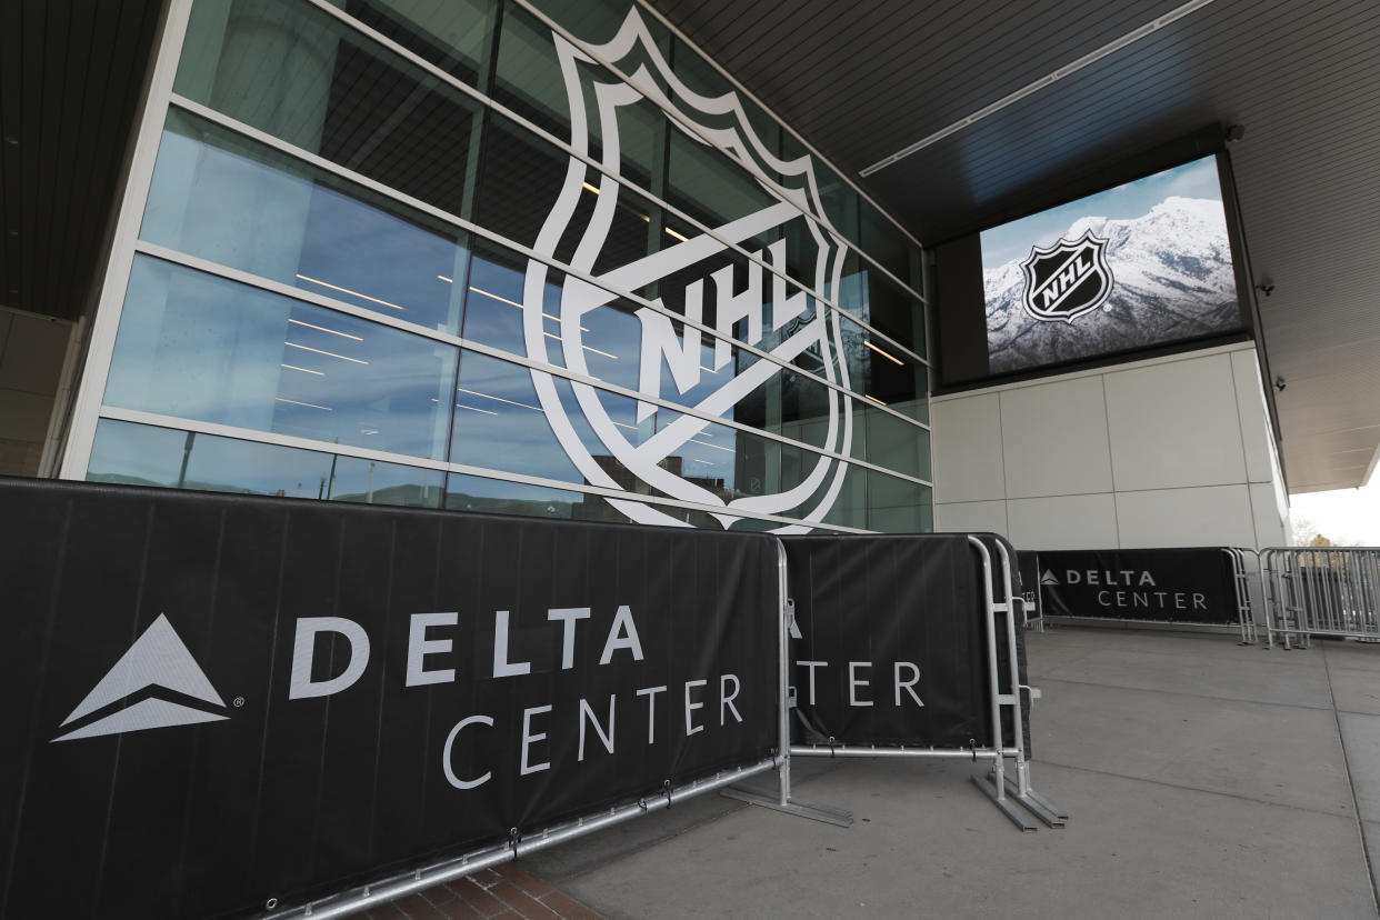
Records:
[[[1118,491],[1246,481],[1228,354],[1115,371],[1105,379]]]

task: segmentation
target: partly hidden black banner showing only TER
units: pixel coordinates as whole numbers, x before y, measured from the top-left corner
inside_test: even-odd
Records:
[[[798,741],[989,743],[983,571],[966,535],[784,542]]]

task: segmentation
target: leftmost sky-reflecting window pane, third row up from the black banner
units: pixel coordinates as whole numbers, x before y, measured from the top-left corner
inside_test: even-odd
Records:
[[[448,332],[465,234],[171,109],[139,236],[211,262]]]

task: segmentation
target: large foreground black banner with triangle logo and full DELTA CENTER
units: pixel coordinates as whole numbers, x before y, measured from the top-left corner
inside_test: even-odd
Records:
[[[769,537],[0,480],[0,914],[290,903],[776,745]]]

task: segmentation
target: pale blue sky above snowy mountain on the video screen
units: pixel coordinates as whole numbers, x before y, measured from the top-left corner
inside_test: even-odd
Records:
[[[1032,246],[1052,246],[1079,218],[1141,217],[1173,194],[1220,201],[1221,183],[1217,179],[1217,159],[1209,156],[1194,160],[1173,170],[1147,175],[1143,179],[1032,214],[1020,221],[983,230],[983,269],[1000,268],[1017,257],[1025,257]]]

